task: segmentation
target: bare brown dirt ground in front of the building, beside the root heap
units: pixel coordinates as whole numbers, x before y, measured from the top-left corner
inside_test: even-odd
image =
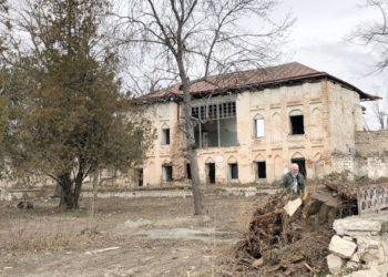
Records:
[[[2,202],[0,276],[222,276],[267,198],[208,196],[203,216],[193,216],[192,197],[98,199],[94,208],[85,198],[73,212],[59,212],[57,199],[29,211]]]

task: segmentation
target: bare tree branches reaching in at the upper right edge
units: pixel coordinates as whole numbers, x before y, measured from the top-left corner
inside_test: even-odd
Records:
[[[376,55],[376,62],[369,74],[381,72],[388,66],[388,0],[366,0],[361,8],[374,8],[380,12],[380,19],[361,22],[346,38],[350,45],[368,47]]]

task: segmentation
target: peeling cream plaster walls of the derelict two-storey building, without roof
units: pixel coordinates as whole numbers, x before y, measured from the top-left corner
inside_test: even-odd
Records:
[[[358,94],[326,80],[246,91],[236,98],[237,116],[236,126],[233,127],[237,130],[238,144],[197,150],[202,183],[208,182],[207,163],[215,164],[215,178],[219,184],[278,181],[288,171],[293,157],[305,158],[309,178],[328,174],[334,170],[333,148],[354,148],[354,132],[361,127],[361,107],[355,106],[359,103]],[[188,161],[183,147],[183,133],[180,131],[181,106],[173,102],[157,105],[152,112],[154,127],[160,134],[163,126],[169,126],[171,144],[162,145],[160,136],[155,140],[144,165],[144,184],[163,186],[161,171],[164,164],[173,166],[174,184],[190,184],[186,178]],[[304,116],[305,133],[302,135],[290,133],[289,115],[295,112]],[[339,122],[340,116],[347,120]],[[264,119],[263,137],[254,135],[255,117]],[[213,129],[210,127],[210,131]],[[266,179],[256,179],[257,161],[266,162]],[[238,179],[229,178],[231,163],[238,164]]]

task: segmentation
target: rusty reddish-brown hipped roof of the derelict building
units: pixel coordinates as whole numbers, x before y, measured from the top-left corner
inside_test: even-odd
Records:
[[[238,90],[249,89],[257,86],[266,86],[270,84],[280,84],[289,81],[297,81],[303,79],[313,78],[330,78],[360,94],[360,99],[375,100],[378,99],[374,95],[369,95],[356,86],[341,81],[335,76],[327,74],[326,72],[316,71],[298,62],[286,63],[283,65],[257,69],[249,71],[234,72],[223,75],[214,75],[207,78],[207,81],[201,81],[191,85],[191,93],[210,93],[210,92],[222,92],[226,90]],[[182,94],[180,90],[181,83],[174,84],[164,90],[157,91],[152,94],[147,94],[146,98],[163,98],[166,94]]]

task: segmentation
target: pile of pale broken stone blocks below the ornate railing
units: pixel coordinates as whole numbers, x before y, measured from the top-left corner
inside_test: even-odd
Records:
[[[327,264],[331,276],[386,277],[388,275],[388,213],[337,219]]]

